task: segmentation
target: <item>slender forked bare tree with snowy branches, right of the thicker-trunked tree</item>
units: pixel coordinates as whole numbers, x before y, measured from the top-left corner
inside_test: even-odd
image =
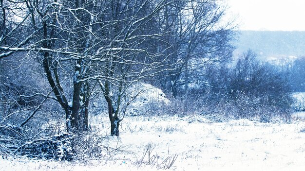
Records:
[[[106,16],[110,16],[109,43],[98,49],[100,75],[97,79],[108,105],[111,135],[119,135],[119,124],[126,107],[134,100],[129,88],[139,81],[158,75],[167,62],[163,51],[153,45],[164,33],[147,28],[159,17],[168,0],[135,0],[122,4],[113,1]],[[132,10],[131,10],[132,9]],[[128,18],[128,19],[126,19]],[[103,52],[104,51],[104,52]],[[101,53],[103,52],[103,53]],[[162,60],[159,60],[162,58]],[[99,63],[98,63],[99,64]]]

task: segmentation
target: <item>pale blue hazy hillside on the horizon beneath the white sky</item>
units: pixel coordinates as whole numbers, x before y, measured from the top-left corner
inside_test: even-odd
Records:
[[[241,31],[234,41],[235,54],[248,49],[262,59],[305,56],[305,32],[284,31]]]

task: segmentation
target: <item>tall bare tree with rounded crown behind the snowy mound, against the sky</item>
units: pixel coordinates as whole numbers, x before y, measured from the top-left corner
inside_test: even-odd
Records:
[[[172,15],[166,16],[164,28],[172,35],[169,54],[178,65],[166,82],[176,97],[182,87],[187,95],[190,83],[203,79],[205,85],[205,69],[230,59],[234,25],[223,21],[226,8],[215,0],[181,1],[168,10]]]

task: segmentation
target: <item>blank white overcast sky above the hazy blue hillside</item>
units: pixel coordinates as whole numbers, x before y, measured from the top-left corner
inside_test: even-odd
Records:
[[[240,30],[305,31],[305,0],[227,0]]]

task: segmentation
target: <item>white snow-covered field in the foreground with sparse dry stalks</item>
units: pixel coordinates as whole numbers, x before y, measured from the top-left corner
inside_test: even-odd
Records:
[[[95,129],[108,132],[107,117]],[[0,158],[0,171],[304,171],[305,122],[210,122],[193,117],[126,117],[120,138],[106,146],[122,150],[111,159],[73,162]],[[151,147],[151,148],[149,148]],[[106,148],[106,147],[105,147]],[[148,150],[151,149],[151,150]],[[146,151],[151,151],[144,157]],[[162,163],[163,162],[163,163]]]

